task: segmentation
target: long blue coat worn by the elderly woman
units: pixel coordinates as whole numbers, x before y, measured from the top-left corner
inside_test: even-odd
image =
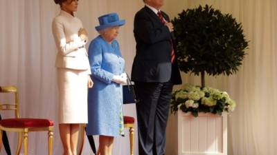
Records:
[[[116,40],[111,44],[102,37],[89,45],[89,63],[93,87],[89,89],[87,134],[119,136],[123,128],[122,85],[111,81],[124,72],[125,61]]]

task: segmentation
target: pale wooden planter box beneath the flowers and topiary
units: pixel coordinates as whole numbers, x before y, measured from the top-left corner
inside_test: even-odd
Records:
[[[168,125],[167,155],[227,155],[226,113],[199,113],[195,118],[179,110],[176,115],[170,120],[177,118],[177,126]]]

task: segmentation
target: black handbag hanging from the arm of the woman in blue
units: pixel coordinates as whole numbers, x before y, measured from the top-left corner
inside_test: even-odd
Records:
[[[135,86],[127,74],[127,85],[123,85],[123,104],[137,103]]]

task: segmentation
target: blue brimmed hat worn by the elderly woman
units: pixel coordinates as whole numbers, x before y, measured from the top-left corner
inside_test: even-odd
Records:
[[[119,20],[117,13],[105,14],[98,17],[100,25],[96,26],[96,30],[100,31],[113,26],[121,26],[125,24],[125,20]]]

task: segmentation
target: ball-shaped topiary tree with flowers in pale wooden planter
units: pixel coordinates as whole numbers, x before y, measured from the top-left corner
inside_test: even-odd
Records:
[[[194,145],[202,147],[195,149],[197,154],[226,154],[226,115],[222,116],[222,112],[233,111],[235,101],[226,92],[206,87],[205,75],[229,76],[238,72],[249,43],[242,24],[231,14],[222,14],[208,5],[183,10],[172,23],[179,68],[182,72],[200,75],[202,83],[201,86],[186,84],[173,92],[171,111],[178,112],[178,152],[170,154],[193,154]],[[199,112],[204,112],[199,119],[190,115],[196,117]],[[209,135],[208,131],[215,134]],[[191,141],[194,138],[199,143]],[[220,141],[213,141],[215,139]],[[211,150],[211,145],[217,149]]]

